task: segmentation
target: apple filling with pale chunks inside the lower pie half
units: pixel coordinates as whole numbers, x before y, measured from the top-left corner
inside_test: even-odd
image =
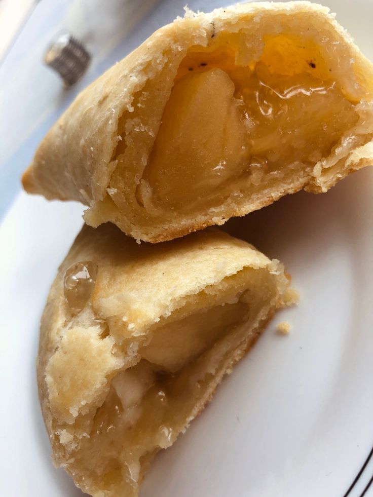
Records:
[[[202,395],[199,381],[208,375],[199,377],[196,364],[208,361],[214,344],[248,320],[245,294],[236,300],[166,323],[139,349],[140,361],[111,381],[83,449],[102,481],[124,480],[136,489],[143,458],[173,443]],[[215,367],[210,360],[207,371]]]

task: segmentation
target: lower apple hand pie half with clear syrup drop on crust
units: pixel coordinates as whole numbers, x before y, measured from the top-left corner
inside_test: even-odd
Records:
[[[40,401],[57,466],[96,497],[138,494],[278,308],[283,266],[209,228],[158,245],[85,226],[42,317]]]

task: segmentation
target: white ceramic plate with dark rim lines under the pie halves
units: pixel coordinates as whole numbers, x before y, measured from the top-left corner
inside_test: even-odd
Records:
[[[370,22],[373,4],[362,4]],[[187,433],[157,456],[141,497],[372,494],[372,191],[365,169],[327,194],[289,196],[250,216],[244,235],[285,263],[300,305],[276,317]],[[81,212],[20,194],[0,226],[4,497],[82,495],[51,465],[35,382],[39,319]],[[283,320],[288,336],[275,331]]]

